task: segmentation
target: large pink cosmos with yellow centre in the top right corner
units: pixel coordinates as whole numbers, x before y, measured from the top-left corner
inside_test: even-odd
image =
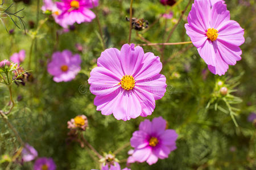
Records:
[[[234,20],[223,1],[213,4],[195,0],[185,24],[187,35],[213,74],[224,75],[229,65],[241,59],[239,48],[245,41],[244,31]]]

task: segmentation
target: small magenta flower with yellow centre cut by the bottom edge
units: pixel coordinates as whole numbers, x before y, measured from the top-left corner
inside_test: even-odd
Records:
[[[34,170],[55,170],[56,165],[52,158],[39,158],[36,159]]]

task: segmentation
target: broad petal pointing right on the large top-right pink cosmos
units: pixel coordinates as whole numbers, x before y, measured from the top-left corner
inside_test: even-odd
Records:
[[[240,24],[234,20],[230,20],[222,24],[221,28],[218,30],[217,40],[240,46],[245,42],[245,37],[243,37],[244,33],[245,31],[240,27]]]

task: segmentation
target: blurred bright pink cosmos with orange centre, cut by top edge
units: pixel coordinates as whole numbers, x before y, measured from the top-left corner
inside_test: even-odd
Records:
[[[67,28],[74,23],[92,22],[96,15],[89,9],[98,6],[98,0],[61,0],[56,4],[62,11],[57,23]]]

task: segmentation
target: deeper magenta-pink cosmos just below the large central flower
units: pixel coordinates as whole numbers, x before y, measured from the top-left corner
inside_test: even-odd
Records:
[[[177,133],[175,130],[166,130],[166,121],[162,117],[157,117],[150,122],[144,120],[139,125],[139,130],[133,133],[131,146],[134,147],[133,162],[147,162],[152,165],[158,159],[168,158],[171,151],[176,150]]]

